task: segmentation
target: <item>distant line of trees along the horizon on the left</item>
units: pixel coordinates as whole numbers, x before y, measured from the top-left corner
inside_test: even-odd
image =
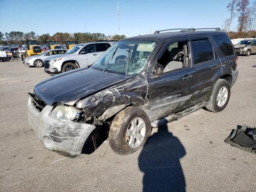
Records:
[[[125,35],[108,35],[102,33],[60,33],[54,35],[42,34],[36,35],[35,32],[23,33],[20,31],[0,32],[0,44],[25,44],[26,39],[38,40],[39,44],[46,44],[47,40],[57,40],[59,44],[64,44],[66,40],[76,40],[78,43],[94,42],[98,40],[120,40],[126,38]]]

